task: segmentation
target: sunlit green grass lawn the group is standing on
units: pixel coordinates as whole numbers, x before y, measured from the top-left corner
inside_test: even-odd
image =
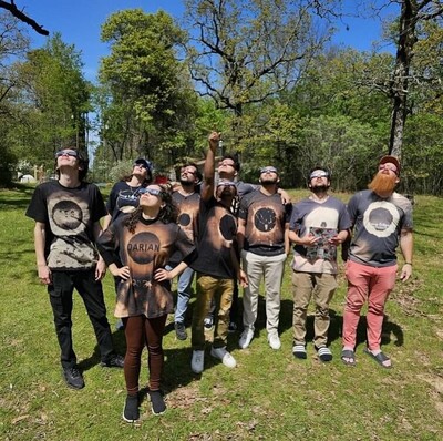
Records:
[[[146,401],[140,424],[122,421],[122,371],[99,366],[95,339],[80,297],[74,305],[74,343],[86,388],[68,389],[45,288],[37,279],[32,229],[24,217],[32,188],[0,191],[0,439],[1,440],[440,440],[443,433],[443,204],[418,196],[414,208],[414,274],[398,284],[387,307],[383,349],[394,368],[383,370],[362,353],[358,366],[340,362],[344,279],[331,304],[331,363],[291,355],[290,260],[282,287],[282,347],[266,341],[264,302],[258,337],[246,350],[229,346],[238,367],[206,358],[198,378],[190,372],[189,339],[175,339],[171,325],[164,348],[167,412],[154,417]],[[293,191],[298,199],[307,192]],[[339,195],[347,199],[349,195]],[[112,326],[114,293],[105,278]],[[310,336],[312,317],[309,317]],[[364,320],[362,320],[364,325]],[[114,331],[124,350],[124,336]],[[143,356],[146,360],[146,355]],[[141,376],[147,381],[146,362]],[[440,434],[439,434],[440,433]]]

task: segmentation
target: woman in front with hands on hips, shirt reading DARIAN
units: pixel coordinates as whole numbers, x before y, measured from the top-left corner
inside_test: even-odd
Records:
[[[122,318],[126,338],[124,376],[126,400],[123,419],[140,419],[140,371],[144,347],[148,353],[152,412],[166,410],[161,391],[164,366],[163,334],[167,315],[174,311],[171,280],[195,258],[195,245],[176,224],[177,208],[165,186],[150,184],[140,189],[138,208],[113,222],[99,238],[97,246],[109,269],[120,278],[114,315]],[[115,256],[119,249],[119,258]],[[173,253],[182,261],[171,270]]]

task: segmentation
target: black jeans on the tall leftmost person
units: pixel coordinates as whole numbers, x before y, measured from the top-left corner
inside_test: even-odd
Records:
[[[53,271],[48,293],[54,315],[55,332],[61,349],[63,368],[73,368],[76,356],[72,345],[72,296],[74,288],[83,299],[87,316],[94,327],[101,360],[109,361],[114,355],[110,324],[106,318],[102,283],[95,280],[95,269],[80,271]]]

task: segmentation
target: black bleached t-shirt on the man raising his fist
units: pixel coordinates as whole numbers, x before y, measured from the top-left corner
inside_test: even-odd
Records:
[[[197,273],[220,279],[235,278],[231,248],[237,236],[237,221],[215,197],[200,201],[198,257],[190,265]]]

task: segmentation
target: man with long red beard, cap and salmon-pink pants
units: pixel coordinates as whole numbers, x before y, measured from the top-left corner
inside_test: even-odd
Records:
[[[400,245],[404,257],[400,279],[412,274],[412,205],[394,192],[400,182],[400,162],[383,156],[369,189],[359,192],[348,204],[353,225],[346,275],[348,295],[343,312],[342,361],[356,365],[356,336],[360,310],[368,301],[368,346],[364,352],[381,367],[391,368],[391,359],[381,349],[384,304],[395,285],[396,255]]]

